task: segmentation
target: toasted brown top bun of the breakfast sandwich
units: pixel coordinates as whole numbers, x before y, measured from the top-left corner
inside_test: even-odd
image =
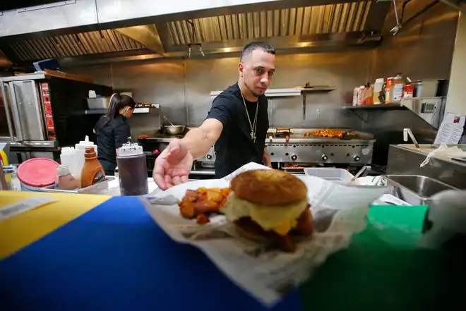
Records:
[[[287,205],[307,196],[306,185],[296,176],[276,169],[254,169],[235,176],[232,190],[237,197],[258,205]]]

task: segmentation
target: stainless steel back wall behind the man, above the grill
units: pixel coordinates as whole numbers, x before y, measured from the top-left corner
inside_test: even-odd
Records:
[[[371,55],[370,50],[277,55],[277,73],[271,87],[295,87],[309,82],[331,85],[337,90],[309,95],[305,121],[301,97],[271,99],[270,126],[351,127],[356,122],[360,127],[359,118],[342,111],[341,106],[352,100],[354,85],[366,83]],[[210,92],[223,90],[237,81],[238,61],[238,57],[141,61],[66,68],[66,71],[91,76],[96,83],[118,90],[132,91],[138,101],[160,103],[162,113],[173,123],[198,126],[210,108]]]

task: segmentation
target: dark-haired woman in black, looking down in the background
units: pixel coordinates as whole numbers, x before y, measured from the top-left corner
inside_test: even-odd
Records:
[[[106,175],[114,175],[117,168],[117,149],[131,137],[126,118],[131,118],[135,106],[136,102],[128,95],[115,93],[110,99],[107,114],[101,116],[95,124],[97,159]]]

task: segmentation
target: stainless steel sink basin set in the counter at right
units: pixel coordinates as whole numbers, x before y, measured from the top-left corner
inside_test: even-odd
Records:
[[[386,175],[390,194],[411,205],[429,205],[430,198],[443,190],[458,190],[446,183],[420,175]]]

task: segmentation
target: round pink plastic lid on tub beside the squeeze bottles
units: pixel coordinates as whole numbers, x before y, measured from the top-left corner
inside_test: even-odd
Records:
[[[57,166],[56,161],[47,158],[28,159],[18,167],[18,179],[31,187],[47,187],[55,183]]]

